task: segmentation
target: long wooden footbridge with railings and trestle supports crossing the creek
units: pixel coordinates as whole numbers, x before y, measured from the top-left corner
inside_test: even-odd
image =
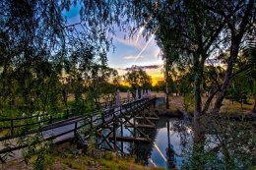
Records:
[[[156,128],[159,117],[155,114],[156,97],[144,96],[140,99],[126,99],[111,103],[101,103],[94,113],[76,115],[72,110],[65,114],[41,114],[30,117],[0,118],[0,130],[8,132],[0,136],[0,158],[21,156],[27,142],[19,142],[32,136],[40,136],[44,141],[54,143],[76,141],[85,146],[92,133],[96,134],[99,148],[123,151],[117,142],[152,142],[142,129]],[[29,123],[27,123],[29,122]],[[117,131],[120,133],[117,135]],[[130,136],[124,136],[126,129]],[[107,132],[107,133],[105,133]],[[104,144],[103,144],[104,143]]]

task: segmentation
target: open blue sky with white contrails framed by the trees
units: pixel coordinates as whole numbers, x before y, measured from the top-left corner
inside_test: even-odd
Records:
[[[72,6],[69,12],[63,12],[68,17],[69,23],[79,22],[80,7]],[[126,68],[132,65],[147,66],[160,65],[160,48],[154,40],[154,36],[146,41],[143,37],[135,34],[133,39],[124,39],[125,32],[116,32],[113,36],[115,50],[107,53],[108,65],[113,68]]]

